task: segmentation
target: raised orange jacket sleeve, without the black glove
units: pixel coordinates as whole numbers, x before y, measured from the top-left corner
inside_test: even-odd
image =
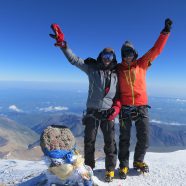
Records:
[[[156,59],[156,57],[162,52],[168,37],[169,34],[161,33],[154,46],[145,55],[137,60],[139,66],[147,69],[151,65],[152,61]]]

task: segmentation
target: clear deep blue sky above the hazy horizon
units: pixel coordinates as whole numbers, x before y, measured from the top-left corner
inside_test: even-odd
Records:
[[[85,82],[87,77],[68,63],[49,37],[58,23],[65,39],[81,58],[105,47],[116,51],[130,40],[147,52],[173,20],[162,54],[147,73],[152,95],[186,96],[185,0],[0,0],[0,81]]]

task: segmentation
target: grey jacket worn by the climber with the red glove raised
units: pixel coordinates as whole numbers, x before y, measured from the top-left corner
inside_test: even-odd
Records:
[[[105,95],[105,75],[97,64],[85,64],[84,60],[77,57],[70,48],[61,48],[68,61],[88,75],[89,90],[87,108],[107,110],[112,107],[113,100],[117,97],[118,78],[115,70],[109,70],[110,89]]]

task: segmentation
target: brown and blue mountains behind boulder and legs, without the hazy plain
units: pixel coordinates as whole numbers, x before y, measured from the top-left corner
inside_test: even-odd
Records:
[[[25,116],[24,116],[25,117]],[[34,117],[34,115],[33,115]],[[27,118],[27,117],[26,117]],[[39,118],[42,118],[41,116]],[[20,116],[19,116],[20,119]],[[79,148],[83,151],[84,126],[82,117],[76,114],[46,115],[37,125],[28,128],[28,125],[17,123],[8,117],[0,116],[0,157],[19,157],[21,159],[39,157],[42,152],[39,148],[39,136],[49,125],[59,124],[68,126],[76,136]],[[25,121],[24,121],[25,123]],[[119,124],[116,123],[116,141],[119,141]],[[135,127],[132,127],[131,150],[136,142]],[[98,154],[103,153],[103,135],[99,130],[96,140]],[[186,148],[186,125],[164,125],[150,123],[151,151],[173,151]],[[99,157],[99,155],[98,155]]]

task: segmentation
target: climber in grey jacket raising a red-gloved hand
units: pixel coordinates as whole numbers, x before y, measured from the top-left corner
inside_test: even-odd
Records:
[[[57,24],[52,24],[56,39],[55,46],[59,46],[68,61],[85,72],[89,79],[85,125],[84,156],[85,164],[95,167],[95,141],[98,127],[104,136],[104,152],[106,175],[105,181],[110,182],[114,177],[117,148],[115,143],[114,118],[118,115],[121,105],[118,98],[118,78],[116,74],[116,55],[112,48],[103,49],[97,60],[77,57],[64,40],[64,34]]]

